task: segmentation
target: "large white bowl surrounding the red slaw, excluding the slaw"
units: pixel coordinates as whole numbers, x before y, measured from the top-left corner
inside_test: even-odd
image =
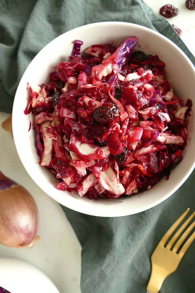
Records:
[[[129,36],[138,39],[137,49],[146,53],[158,54],[165,64],[166,78],[173,84],[179,97],[192,99],[195,105],[195,70],[193,64],[173,42],[163,35],[140,25],[123,22],[103,22],[75,28],[46,45],[26,69],[15,94],[13,104],[13,136],[20,159],[32,179],[50,197],[62,205],[85,214],[101,217],[118,217],[142,212],[158,205],[174,193],[188,178],[195,166],[194,110],[188,127],[188,144],[183,152],[183,161],[171,171],[169,180],[162,178],[151,190],[144,193],[119,197],[118,199],[89,200],[56,189],[58,180],[51,172],[39,165],[39,157],[34,146],[34,132],[28,132],[32,114],[24,115],[27,105],[27,82],[31,86],[45,83],[49,73],[58,62],[65,61],[71,54],[75,39],[82,40],[84,48],[101,43],[119,45]],[[194,108],[194,107],[193,107]]]

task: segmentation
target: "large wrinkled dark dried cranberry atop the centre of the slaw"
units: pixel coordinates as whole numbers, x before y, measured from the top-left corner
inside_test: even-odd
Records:
[[[94,118],[98,122],[110,122],[120,115],[120,108],[117,104],[104,103],[94,110]]]

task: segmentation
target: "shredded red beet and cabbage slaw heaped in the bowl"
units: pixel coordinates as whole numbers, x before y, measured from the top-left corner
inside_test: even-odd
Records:
[[[149,190],[182,160],[192,102],[175,95],[157,55],[133,52],[136,37],[117,49],[88,47],[87,57],[82,44],[48,84],[27,85],[39,163],[59,178],[57,189],[81,197]]]

